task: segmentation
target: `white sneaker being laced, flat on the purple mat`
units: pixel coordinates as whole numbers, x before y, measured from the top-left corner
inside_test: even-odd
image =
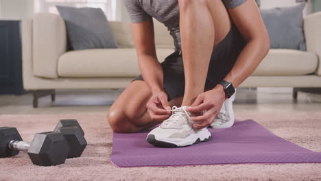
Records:
[[[147,135],[147,142],[156,147],[185,147],[211,139],[207,128],[196,130],[193,121],[189,120],[191,113],[185,110],[187,106],[173,106],[173,114]]]

